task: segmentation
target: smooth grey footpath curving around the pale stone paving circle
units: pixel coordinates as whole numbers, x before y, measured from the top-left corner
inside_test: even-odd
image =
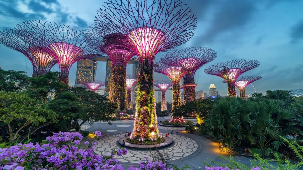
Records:
[[[164,120],[163,117],[159,117],[158,120]],[[122,123],[122,121],[121,121]],[[133,123],[123,123],[124,125],[129,125],[128,127],[119,127],[121,123],[113,123],[112,125],[108,125],[106,123],[94,123],[93,125],[89,125],[90,127],[88,130],[90,132],[95,132],[95,130],[98,130],[102,133],[104,138],[108,136],[118,135],[120,130],[122,130],[122,136],[125,135],[125,132],[131,132],[133,129]],[[116,130],[116,131],[113,131]],[[159,132],[165,133],[171,133],[171,129],[159,129]],[[175,130],[173,131],[174,136]],[[171,163],[176,165],[178,168],[181,168],[182,166],[189,165],[191,168],[190,170],[204,170],[205,165],[202,163],[202,161],[208,161],[207,158],[215,161],[215,162],[222,162],[222,163],[228,163],[227,161],[218,158],[218,155],[222,155],[222,152],[219,153],[219,149],[216,143],[212,142],[209,139],[206,139],[202,136],[197,136],[194,134],[186,133],[183,130],[179,130],[180,137],[186,139],[190,138],[193,141],[195,141],[197,144],[195,144],[195,151],[188,156],[185,156],[183,158],[172,160]],[[102,137],[103,138],[103,137]],[[84,139],[82,142],[85,142],[86,140],[92,140],[92,139]],[[132,151],[134,152],[134,151]],[[144,155],[142,155],[144,156]],[[229,154],[224,154],[224,156],[228,157]],[[144,156],[145,157],[145,156]],[[123,159],[122,157],[116,157],[116,159]],[[245,157],[245,156],[234,156],[235,161],[241,162],[244,165],[250,166],[250,161],[253,160],[252,158]],[[137,167],[137,163],[129,163],[129,162],[120,162],[121,165],[123,165],[124,169],[129,168],[129,166]]]

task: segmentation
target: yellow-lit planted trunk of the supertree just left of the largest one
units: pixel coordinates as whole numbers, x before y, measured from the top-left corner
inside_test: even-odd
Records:
[[[109,87],[109,101],[115,103],[118,110],[125,109],[126,97],[126,69],[113,67],[111,84]]]

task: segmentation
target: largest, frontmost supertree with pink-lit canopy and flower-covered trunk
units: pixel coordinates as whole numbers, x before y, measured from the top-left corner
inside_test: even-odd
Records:
[[[158,52],[188,41],[196,26],[194,13],[179,0],[109,0],[95,16],[100,33],[127,35],[124,43],[139,59],[138,95],[131,139],[158,137],[153,60]],[[184,8],[185,7],[185,8]]]

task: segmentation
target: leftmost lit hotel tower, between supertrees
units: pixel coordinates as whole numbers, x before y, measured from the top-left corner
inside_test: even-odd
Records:
[[[87,88],[85,85],[79,83],[79,81],[86,83],[93,82],[95,80],[97,65],[97,61],[91,59],[77,61],[75,87]]]

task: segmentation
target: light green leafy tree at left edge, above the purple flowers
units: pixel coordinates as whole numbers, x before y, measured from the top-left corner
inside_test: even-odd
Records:
[[[0,121],[8,126],[9,142],[16,140],[28,125],[41,127],[57,122],[58,115],[49,110],[45,101],[32,99],[25,92],[0,92],[0,101]],[[17,127],[12,126],[15,122]]]

